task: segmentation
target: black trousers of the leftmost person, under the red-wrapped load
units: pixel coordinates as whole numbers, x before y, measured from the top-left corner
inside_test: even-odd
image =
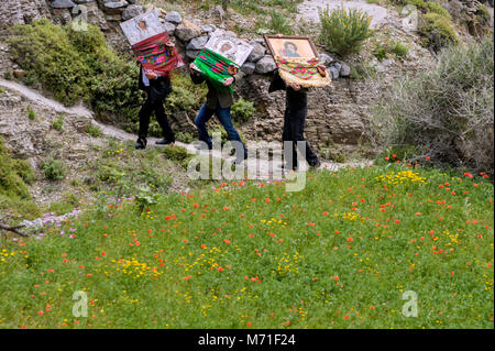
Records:
[[[174,142],[175,141],[174,131],[172,130],[170,124],[168,123],[165,109],[163,108],[163,102],[165,98],[155,97],[150,90],[146,92],[147,92],[146,101],[143,103],[143,107],[140,110],[139,138],[146,139],[147,130],[150,129],[150,117],[154,111],[156,116],[156,121],[162,128],[163,136],[168,141]]]

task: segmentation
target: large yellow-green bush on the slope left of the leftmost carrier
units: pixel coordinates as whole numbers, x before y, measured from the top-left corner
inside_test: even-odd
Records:
[[[139,67],[118,57],[95,25],[74,31],[46,20],[10,31],[12,58],[55,99],[88,102],[97,113],[132,118],[141,103]]]

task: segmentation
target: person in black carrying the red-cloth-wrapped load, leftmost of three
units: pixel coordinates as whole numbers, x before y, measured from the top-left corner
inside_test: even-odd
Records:
[[[141,90],[146,91],[146,101],[140,111],[140,131],[135,149],[145,149],[150,117],[155,111],[156,120],[162,128],[164,139],[157,141],[157,145],[167,145],[175,142],[174,131],[168,124],[168,119],[163,107],[166,97],[172,92],[170,79],[167,76],[157,76],[154,73],[144,72],[141,66],[140,85]]]

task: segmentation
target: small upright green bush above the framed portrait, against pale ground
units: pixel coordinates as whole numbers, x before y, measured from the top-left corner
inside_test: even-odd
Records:
[[[359,9],[338,8],[320,11],[321,42],[342,56],[359,52],[372,32],[371,17]]]

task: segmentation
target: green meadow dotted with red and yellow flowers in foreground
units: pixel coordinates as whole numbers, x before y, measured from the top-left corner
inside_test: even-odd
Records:
[[[143,213],[111,204],[43,240],[2,240],[0,327],[494,327],[483,177],[391,163],[317,172],[300,193],[223,183]],[[417,318],[402,315],[406,290]]]

